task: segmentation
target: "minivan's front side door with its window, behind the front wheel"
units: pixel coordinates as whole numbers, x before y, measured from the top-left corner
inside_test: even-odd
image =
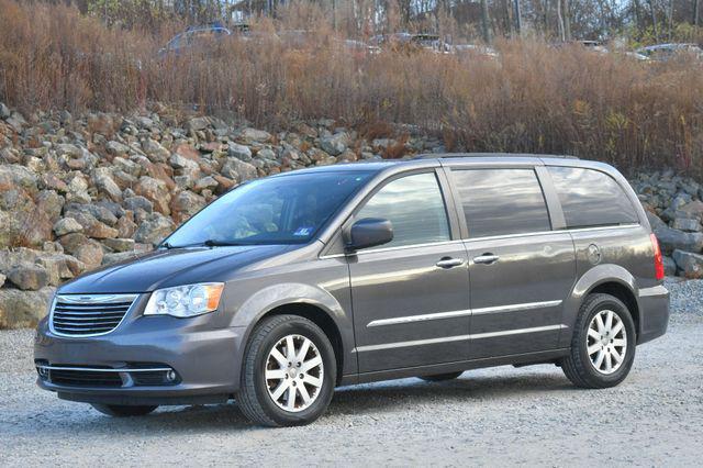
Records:
[[[435,171],[387,182],[355,214],[365,218],[390,220],[393,241],[348,257],[359,371],[465,360],[467,254]]]

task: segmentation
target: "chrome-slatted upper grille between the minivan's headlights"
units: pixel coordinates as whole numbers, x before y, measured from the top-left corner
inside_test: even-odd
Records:
[[[136,294],[63,294],[52,307],[49,325],[57,335],[104,335],[118,327]]]

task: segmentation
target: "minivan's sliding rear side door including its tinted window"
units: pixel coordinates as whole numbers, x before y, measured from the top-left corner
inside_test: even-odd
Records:
[[[468,231],[472,359],[554,349],[565,327],[573,243],[553,230],[537,170],[451,169]]]

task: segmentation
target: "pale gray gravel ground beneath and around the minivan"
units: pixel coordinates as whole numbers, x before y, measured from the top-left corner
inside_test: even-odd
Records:
[[[669,333],[637,349],[617,388],[499,367],[346,387],[315,424],[280,430],[252,426],[234,403],[103,416],[35,386],[31,331],[0,332],[0,466],[701,466],[703,281],[669,287]]]

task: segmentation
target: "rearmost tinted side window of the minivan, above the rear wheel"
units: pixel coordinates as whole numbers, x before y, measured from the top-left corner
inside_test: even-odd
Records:
[[[636,223],[637,213],[607,174],[576,167],[548,167],[568,227]]]

